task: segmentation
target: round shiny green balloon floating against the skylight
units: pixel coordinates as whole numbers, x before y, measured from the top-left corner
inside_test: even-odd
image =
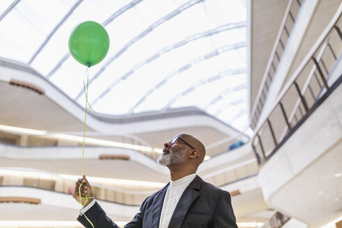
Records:
[[[69,39],[69,51],[79,63],[91,67],[106,57],[109,37],[97,22],[83,22],[76,26]]]

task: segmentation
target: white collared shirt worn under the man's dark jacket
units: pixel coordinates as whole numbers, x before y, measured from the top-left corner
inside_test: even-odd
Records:
[[[177,181],[170,181],[168,190],[166,190],[163,208],[161,209],[161,220],[159,221],[159,228],[168,228],[170,219],[176,208],[181,195],[184,190],[190,184],[193,179],[195,179],[196,174],[190,174],[186,177],[178,179]]]

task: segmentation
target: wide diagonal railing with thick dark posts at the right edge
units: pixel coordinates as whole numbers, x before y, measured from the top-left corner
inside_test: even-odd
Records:
[[[341,11],[342,6],[286,84],[266,120],[255,129],[252,148],[259,164],[275,154],[341,83],[341,70],[336,70],[342,64]]]

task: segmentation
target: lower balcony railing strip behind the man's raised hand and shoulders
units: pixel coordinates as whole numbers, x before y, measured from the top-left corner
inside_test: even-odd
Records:
[[[259,166],[255,161],[255,158],[252,158],[229,168],[204,175],[203,179],[215,186],[225,186],[242,179],[254,177],[258,172]],[[26,170],[8,169],[0,170],[0,188],[1,186],[39,188],[56,193],[70,194],[70,197],[72,197],[75,182],[76,179],[64,179],[57,174],[50,174],[47,172],[29,172]],[[140,206],[142,201],[149,195],[152,195],[155,191],[142,191],[139,189],[132,191],[111,188],[100,184],[90,184],[92,185],[92,192],[96,199],[131,206]]]

